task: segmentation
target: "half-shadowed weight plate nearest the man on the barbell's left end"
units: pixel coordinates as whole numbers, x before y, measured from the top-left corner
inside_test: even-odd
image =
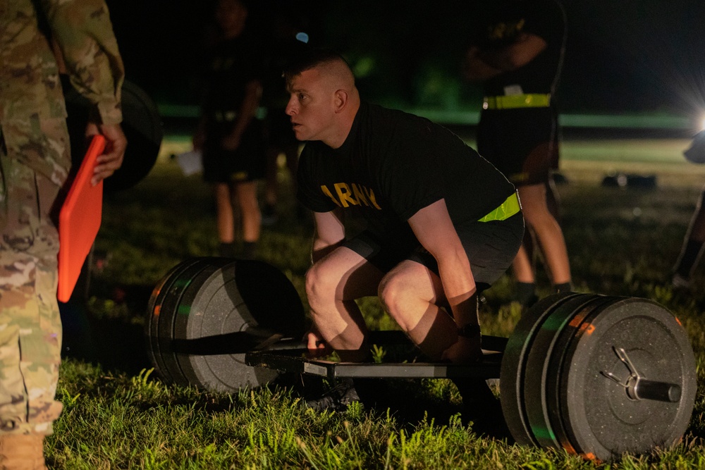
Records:
[[[204,273],[202,273],[204,274]],[[192,385],[233,392],[255,388],[278,373],[245,364],[245,351],[233,343],[230,351],[191,353],[188,342],[257,328],[298,338],[304,330],[304,309],[290,280],[262,261],[236,260],[209,276],[199,276],[180,300],[174,338],[182,340],[178,363]],[[200,342],[199,344],[201,344]]]

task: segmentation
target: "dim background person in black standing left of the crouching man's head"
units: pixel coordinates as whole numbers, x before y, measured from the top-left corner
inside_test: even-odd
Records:
[[[203,152],[204,180],[216,199],[219,254],[253,259],[262,226],[257,180],[264,178],[264,134],[255,117],[262,97],[262,58],[246,30],[243,0],[216,6],[219,37],[210,56],[201,120],[193,147]],[[235,251],[235,206],[243,248]]]

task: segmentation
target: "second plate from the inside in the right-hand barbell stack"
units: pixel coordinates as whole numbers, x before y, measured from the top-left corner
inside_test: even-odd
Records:
[[[529,428],[541,447],[559,447],[546,411],[546,378],[553,373],[548,369],[548,358],[560,332],[568,327],[572,318],[584,309],[591,309],[598,300],[599,296],[591,294],[571,297],[553,309],[534,333],[524,366],[524,407]]]

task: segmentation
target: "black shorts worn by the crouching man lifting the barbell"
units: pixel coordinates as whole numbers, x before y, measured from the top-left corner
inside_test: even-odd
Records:
[[[470,260],[477,291],[482,292],[500,278],[514,261],[524,237],[524,217],[519,212],[503,221],[472,222],[456,230]],[[380,242],[371,233],[362,232],[346,240],[343,246],[367,259],[383,273],[388,273],[406,259],[439,273],[434,256],[418,243],[404,246],[395,240]]]

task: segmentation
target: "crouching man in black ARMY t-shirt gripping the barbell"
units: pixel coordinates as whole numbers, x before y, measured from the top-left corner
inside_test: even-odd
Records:
[[[335,53],[309,51],[285,76],[286,112],[308,141],[298,198],[316,223],[309,349],[369,360],[355,299],[379,295],[430,359],[479,360],[477,292],[506,271],[523,235],[514,186],[445,128],[361,102]],[[336,407],[345,393],[312,406]]]

